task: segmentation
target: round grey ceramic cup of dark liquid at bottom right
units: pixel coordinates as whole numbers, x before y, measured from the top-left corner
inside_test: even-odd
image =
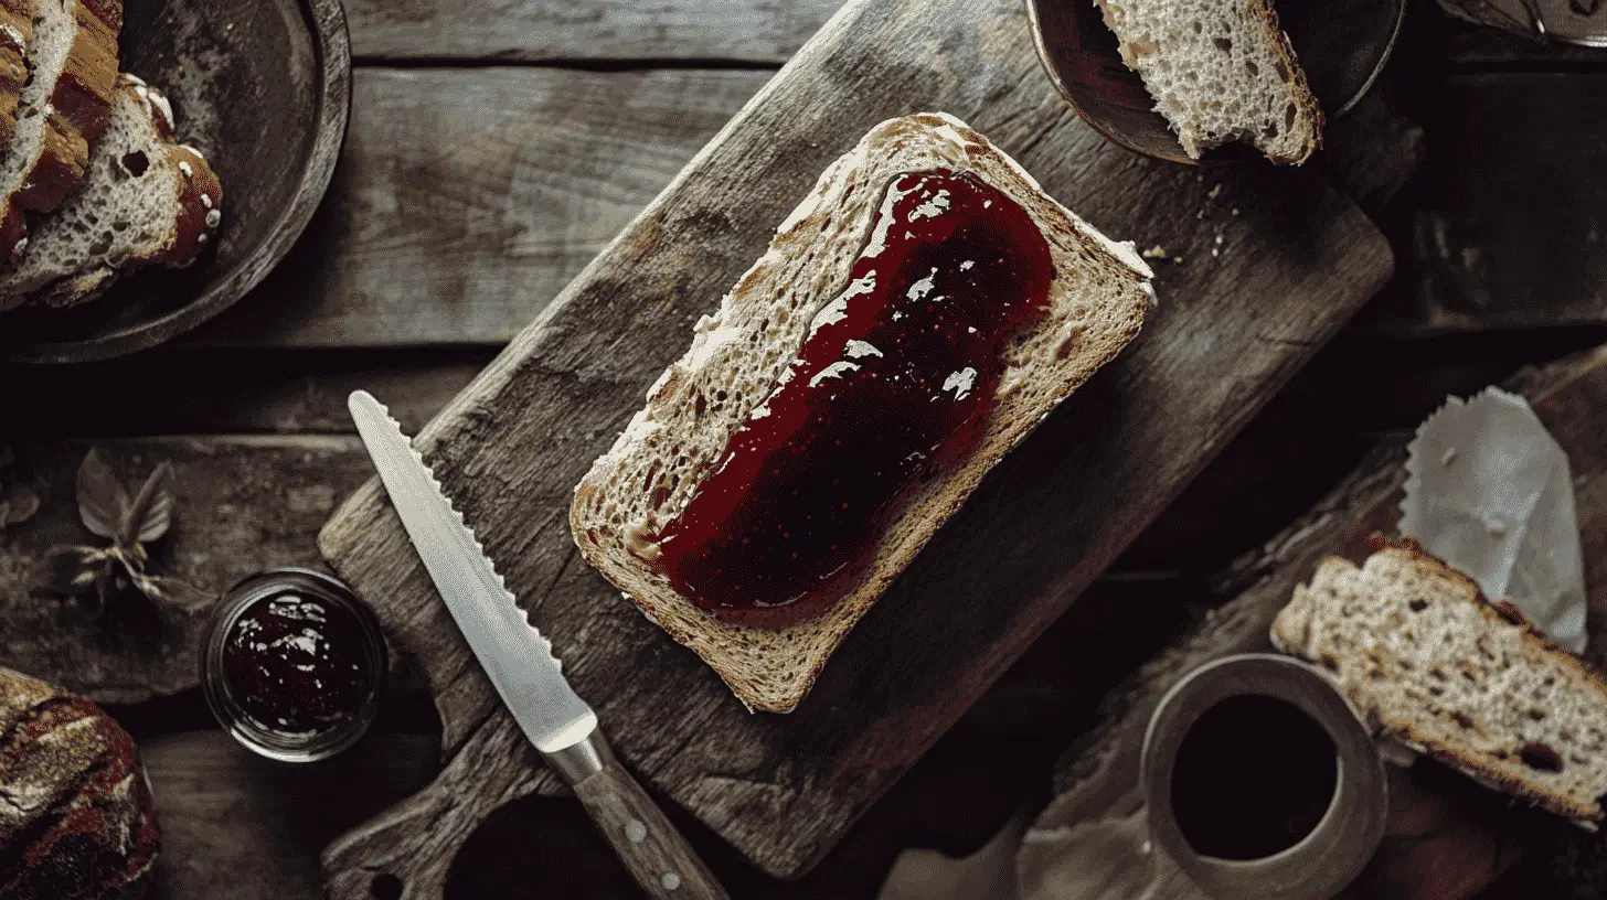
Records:
[[[1239,709],[1247,709],[1239,701],[1250,698],[1279,710],[1287,710],[1287,707],[1276,702],[1268,704],[1268,699],[1282,701],[1294,707],[1287,712],[1297,718],[1282,720],[1298,726],[1284,734],[1290,739],[1290,765],[1331,771],[1334,783],[1332,799],[1327,802],[1326,812],[1318,813],[1319,818],[1310,832],[1303,837],[1295,836],[1295,842],[1287,849],[1258,858],[1225,858],[1225,855],[1200,852],[1184,836],[1186,829],[1180,824],[1178,808],[1173,805],[1176,799],[1173,776],[1180,773],[1180,751],[1191,752],[1189,746],[1199,746],[1197,741],[1189,744],[1191,731],[1196,730],[1202,717],[1221,707],[1225,701],[1234,701]],[[1298,720],[1298,715],[1310,717],[1310,722]],[[1321,726],[1321,731],[1332,741],[1335,757],[1332,768],[1329,768],[1329,760],[1323,757],[1316,759],[1318,765],[1310,765],[1313,762],[1310,754],[1298,757],[1303,762],[1294,759],[1295,733],[1305,738],[1300,746],[1305,751],[1311,749],[1310,736],[1316,734],[1311,723]],[[1276,759],[1279,734],[1257,734],[1255,738],[1268,741],[1274,747],[1273,757]],[[1321,734],[1316,738],[1321,741]],[[1326,749],[1326,742],[1321,746]],[[1257,744],[1257,749],[1261,751],[1263,744]],[[1263,759],[1263,754],[1258,752],[1257,759]],[[1184,762],[1184,765],[1191,763]],[[1231,775],[1233,767],[1225,767],[1223,776]],[[1229,797],[1236,791],[1244,791],[1245,796],[1250,791],[1276,792],[1286,788],[1297,792],[1292,781],[1297,781],[1300,775],[1308,773],[1270,765],[1253,776],[1265,781],[1218,784],[1213,789]],[[1388,788],[1384,762],[1374,747],[1371,733],[1324,670],[1284,656],[1229,656],[1202,665],[1178,681],[1160,699],[1144,734],[1143,778],[1154,849],[1170,857],[1202,894],[1220,900],[1319,900],[1332,897],[1361,873],[1384,837]],[[1308,779],[1306,788],[1310,784]],[[1326,784],[1326,781],[1319,784]],[[1247,802],[1245,807],[1253,808],[1253,804]],[[1234,812],[1244,813],[1244,810]],[[1196,842],[1208,844],[1199,839]]]

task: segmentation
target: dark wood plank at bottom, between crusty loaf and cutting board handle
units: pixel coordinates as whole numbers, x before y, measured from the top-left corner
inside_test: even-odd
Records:
[[[439,752],[427,734],[371,734],[329,762],[281,765],[217,730],[143,741],[162,828],[151,900],[323,897],[318,849],[426,784]]]

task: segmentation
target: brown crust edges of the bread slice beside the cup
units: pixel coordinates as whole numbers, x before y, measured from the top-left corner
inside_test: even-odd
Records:
[[[1417,542],[1414,540],[1392,542],[1384,538],[1384,535],[1374,535],[1369,542],[1369,550],[1372,550],[1374,553],[1393,553],[1403,556],[1409,559],[1414,566],[1422,569],[1425,574],[1454,582],[1462,588],[1464,595],[1472,598],[1472,604],[1477,609],[1478,616],[1491,628],[1517,630],[1520,640],[1525,644],[1530,644],[1531,648],[1549,656],[1552,662],[1565,669],[1570,675],[1576,677],[1581,685],[1586,685],[1599,691],[1602,696],[1607,696],[1607,678],[1604,678],[1599,670],[1591,667],[1583,657],[1580,657],[1573,651],[1546,638],[1511,603],[1506,601],[1491,603],[1490,598],[1486,598],[1483,591],[1478,590],[1477,582],[1474,582],[1470,577],[1454,569],[1438,556],[1433,556],[1432,553],[1425,551],[1421,545],[1417,545]],[[1337,556],[1324,561],[1324,566],[1334,562],[1353,566],[1351,561]],[[1313,579],[1313,582],[1316,579]],[[1294,606],[1295,603],[1290,603],[1290,606],[1286,608],[1286,611],[1292,611]],[[1271,640],[1273,646],[1276,646],[1279,652],[1287,652],[1290,656],[1305,656],[1300,652],[1300,646],[1305,643],[1305,640],[1292,633],[1292,627],[1295,625],[1297,620],[1297,612],[1298,611],[1294,611],[1287,617],[1284,616],[1284,612],[1279,612],[1278,619],[1273,622]],[[1331,670],[1337,670],[1339,667],[1337,661],[1334,659],[1313,659],[1313,662],[1318,662],[1319,665],[1324,665],[1326,669]],[[1358,702],[1358,707],[1372,712],[1371,704]],[[1523,800],[1528,800],[1530,804],[1535,804],[1536,807],[1544,808],[1548,812],[1562,815],[1565,818],[1585,824],[1599,823],[1604,818],[1607,818],[1607,810],[1602,808],[1601,799],[1597,799],[1594,804],[1580,804],[1570,796],[1540,789],[1535,786],[1533,781],[1525,781],[1522,778],[1509,775],[1507,771],[1493,768],[1478,754],[1469,752],[1454,744],[1437,741],[1432,736],[1429,736],[1422,728],[1414,728],[1411,723],[1406,722],[1387,723],[1377,720],[1374,712],[1374,720],[1369,722],[1369,726],[1372,726],[1374,731],[1382,731],[1390,734],[1392,738],[1398,739],[1400,742],[1406,744],[1408,747],[1424,755],[1429,755],[1445,765],[1450,765],[1451,768],[1456,768],[1458,771],[1462,771],[1464,775],[1474,778],[1475,781],[1480,781],[1483,784],[1488,784],[1498,791],[1512,794],[1515,797],[1522,797]]]

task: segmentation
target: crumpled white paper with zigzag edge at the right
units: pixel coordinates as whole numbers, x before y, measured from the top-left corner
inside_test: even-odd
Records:
[[[1401,534],[1585,649],[1585,558],[1573,476],[1528,402],[1488,389],[1429,416],[1406,461]]]

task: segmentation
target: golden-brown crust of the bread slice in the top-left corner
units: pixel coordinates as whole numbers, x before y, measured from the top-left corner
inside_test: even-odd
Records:
[[[111,121],[122,0],[74,0],[72,16],[72,45],[45,106],[37,158],[0,212],[0,260],[6,264],[14,264],[26,248],[27,214],[61,206],[84,177],[90,148]]]

